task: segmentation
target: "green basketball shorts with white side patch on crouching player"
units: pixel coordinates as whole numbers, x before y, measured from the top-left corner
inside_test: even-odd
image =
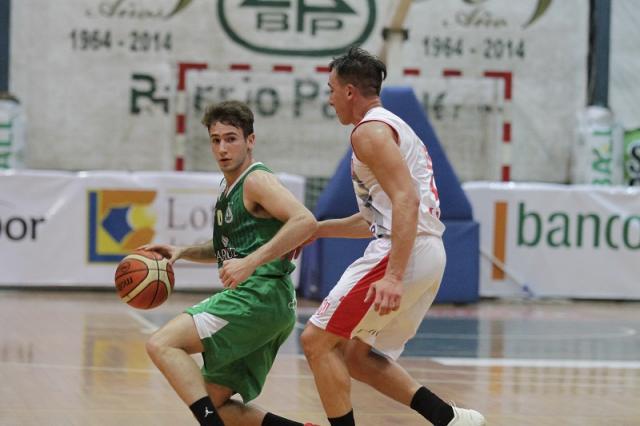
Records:
[[[256,398],[296,321],[291,279],[251,276],[185,310],[204,346],[205,381]]]

